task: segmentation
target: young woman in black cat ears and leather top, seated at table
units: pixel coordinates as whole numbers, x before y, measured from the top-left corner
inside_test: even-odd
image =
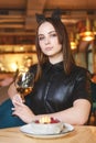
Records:
[[[10,86],[9,96],[13,103],[10,111],[12,108],[12,114],[18,118],[11,116],[9,122],[12,123],[7,122],[4,128],[30,123],[46,114],[71,124],[85,124],[90,112],[88,72],[75,65],[60,14],[53,12],[51,18],[36,15],[36,19],[39,63],[30,68],[35,74],[34,88],[23,103],[14,84]]]

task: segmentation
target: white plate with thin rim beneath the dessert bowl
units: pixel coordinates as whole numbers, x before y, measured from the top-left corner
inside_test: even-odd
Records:
[[[32,132],[31,124],[25,124],[25,125],[20,128],[20,131],[22,133],[24,133],[25,135],[32,136],[32,138],[40,138],[40,139],[61,138],[61,136],[64,136],[67,133],[72,132],[73,130],[74,130],[74,127],[68,124],[68,123],[64,123],[64,130],[61,133],[57,133],[57,134],[34,134]]]

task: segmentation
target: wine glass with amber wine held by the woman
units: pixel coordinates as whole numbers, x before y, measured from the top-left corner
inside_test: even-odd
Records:
[[[20,96],[24,101],[24,97],[32,91],[34,85],[34,74],[29,70],[26,72],[24,69],[20,69],[17,74],[14,85],[17,91],[20,92]]]

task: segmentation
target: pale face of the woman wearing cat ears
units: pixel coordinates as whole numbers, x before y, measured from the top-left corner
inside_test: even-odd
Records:
[[[41,51],[51,57],[62,54],[62,44],[58,42],[57,33],[50,22],[44,22],[39,28],[39,44]]]

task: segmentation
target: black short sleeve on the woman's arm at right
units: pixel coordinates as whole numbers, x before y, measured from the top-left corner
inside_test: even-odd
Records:
[[[73,100],[87,99],[92,102],[90,76],[86,69],[82,69],[76,76]]]

